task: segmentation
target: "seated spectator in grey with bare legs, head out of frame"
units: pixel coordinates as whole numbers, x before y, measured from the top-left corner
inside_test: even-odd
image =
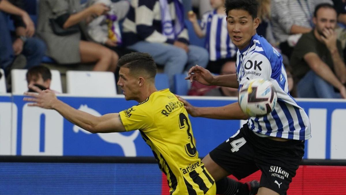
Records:
[[[116,52],[101,44],[81,40],[81,36],[88,40],[85,20],[103,15],[108,10],[102,3],[83,9],[80,0],[40,0],[37,34],[47,44],[47,55],[58,63],[95,62],[93,70],[114,72],[119,59]],[[80,31],[57,35],[52,29],[52,22],[63,31],[75,29],[74,25],[78,25]]]

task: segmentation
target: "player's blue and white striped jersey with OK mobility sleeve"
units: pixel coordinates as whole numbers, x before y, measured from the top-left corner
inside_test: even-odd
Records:
[[[237,52],[237,79],[240,87],[248,79],[269,80],[277,93],[274,110],[263,117],[251,117],[248,126],[254,132],[272,137],[305,140],[311,137],[305,111],[288,91],[287,75],[281,54],[262,36],[252,36],[250,44]]]

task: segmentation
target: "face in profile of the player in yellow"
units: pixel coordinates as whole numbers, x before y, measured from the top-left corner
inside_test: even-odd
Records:
[[[125,95],[125,100],[137,100],[139,94],[138,78],[130,74],[130,69],[120,67],[118,85]]]

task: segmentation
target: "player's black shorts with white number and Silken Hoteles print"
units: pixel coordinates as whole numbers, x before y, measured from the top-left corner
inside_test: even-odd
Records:
[[[281,142],[259,137],[245,124],[209,155],[239,180],[261,170],[260,187],[284,195],[303,158],[304,141]]]

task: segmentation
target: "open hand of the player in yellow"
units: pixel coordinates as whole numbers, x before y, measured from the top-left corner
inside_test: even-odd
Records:
[[[41,90],[35,85],[29,85],[29,88],[37,93],[25,92],[24,95],[30,97],[24,97],[23,100],[29,103],[28,106],[37,106],[46,109],[53,109],[54,102],[57,101],[56,95],[52,90]]]

